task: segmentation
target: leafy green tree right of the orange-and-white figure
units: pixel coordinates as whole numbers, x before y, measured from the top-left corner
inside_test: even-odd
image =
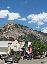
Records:
[[[47,50],[47,45],[40,40],[34,40],[32,46],[34,55],[42,55]]]

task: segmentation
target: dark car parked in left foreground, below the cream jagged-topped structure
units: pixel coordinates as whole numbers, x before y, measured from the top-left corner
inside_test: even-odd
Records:
[[[18,63],[19,60],[20,60],[21,56],[20,56],[20,52],[19,51],[16,51],[14,52],[13,51],[13,54],[10,54],[7,56],[7,58],[5,58],[5,62],[11,62],[11,63]]]

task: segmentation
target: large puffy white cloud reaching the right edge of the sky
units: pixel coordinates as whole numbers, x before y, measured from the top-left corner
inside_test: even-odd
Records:
[[[43,12],[40,14],[30,14],[27,19],[37,23],[38,25],[43,25],[44,22],[47,22],[47,13]]]

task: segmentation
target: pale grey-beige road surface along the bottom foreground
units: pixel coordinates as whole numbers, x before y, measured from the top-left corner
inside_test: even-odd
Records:
[[[0,64],[7,64],[7,63],[0,60]],[[47,64],[47,58],[44,58],[44,59],[32,59],[32,60],[20,60],[19,63],[13,63],[13,64]]]

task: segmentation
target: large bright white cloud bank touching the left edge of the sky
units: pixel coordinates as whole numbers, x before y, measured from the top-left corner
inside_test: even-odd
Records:
[[[10,12],[8,10],[0,10],[0,18],[5,18],[8,16],[8,20],[14,20],[20,18],[19,13]]]

